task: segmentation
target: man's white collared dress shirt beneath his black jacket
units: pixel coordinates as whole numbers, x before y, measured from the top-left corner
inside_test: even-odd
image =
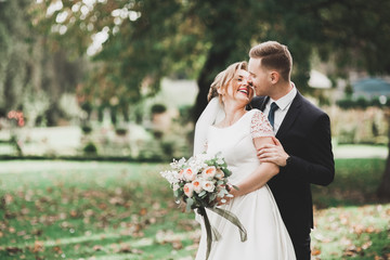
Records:
[[[274,116],[274,133],[277,133],[277,130],[280,129],[283,119],[285,118],[288,108],[290,107],[294,98],[297,95],[297,89],[295,87],[295,84],[291,82],[292,89],[284,96],[282,96],[281,99],[278,99],[277,101],[274,101],[270,98],[269,102],[265,105],[265,109],[263,110],[263,113],[265,114],[265,116],[268,117],[268,114],[270,113],[270,108],[271,108],[271,103],[275,102],[276,105],[278,106],[278,109],[275,110],[275,116]]]

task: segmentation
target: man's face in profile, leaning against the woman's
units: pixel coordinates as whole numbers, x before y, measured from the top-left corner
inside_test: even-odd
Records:
[[[261,58],[251,57],[248,63],[248,70],[250,73],[250,79],[253,84],[256,95],[269,95],[269,73],[261,66]]]

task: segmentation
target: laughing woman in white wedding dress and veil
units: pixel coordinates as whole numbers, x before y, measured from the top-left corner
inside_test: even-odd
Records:
[[[233,198],[220,206],[237,216],[247,231],[240,242],[237,227],[207,210],[211,226],[221,234],[212,243],[208,259],[296,259],[294,247],[266,182],[278,173],[271,162],[260,164],[256,148],[272,143],[271,125],[262,112],[246,110],[253,98],[247,63],[230,65],[217,75],[209,91],[209,104],[195,128],[194,154],[221,152],[232,171]],[[207,235],[202,217],[202,237],[196,260],[206,259]]]

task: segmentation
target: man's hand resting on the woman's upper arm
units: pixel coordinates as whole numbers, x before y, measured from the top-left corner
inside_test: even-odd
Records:
[[[264,144],[258,148],[258,158],[261,162],[273,162],[280,167],[285,167],[289,155],[276,138],[273,136],[272,140],[274,144]]]

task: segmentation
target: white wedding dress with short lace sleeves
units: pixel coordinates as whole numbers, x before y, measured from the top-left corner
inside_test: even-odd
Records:
[[[260,165],[253,138],[274,135],[264,114],[258,109],[247,112],[238,121],[226,128],[209,126],[207,153],[222,152],[229,169],[230,182],[237,184]],[[237,226],[207,210],[211,226],[221,238],[212,242],[213,260],[290,260],[296,259],[292,243],[281,218],[275,199],[268,185],[245,196],[233,198],[221,208],[233,212],[247,231],[247,240],[240,242]],[[196,260],[206,259],[207,235],[200,216],[202,237]]]

